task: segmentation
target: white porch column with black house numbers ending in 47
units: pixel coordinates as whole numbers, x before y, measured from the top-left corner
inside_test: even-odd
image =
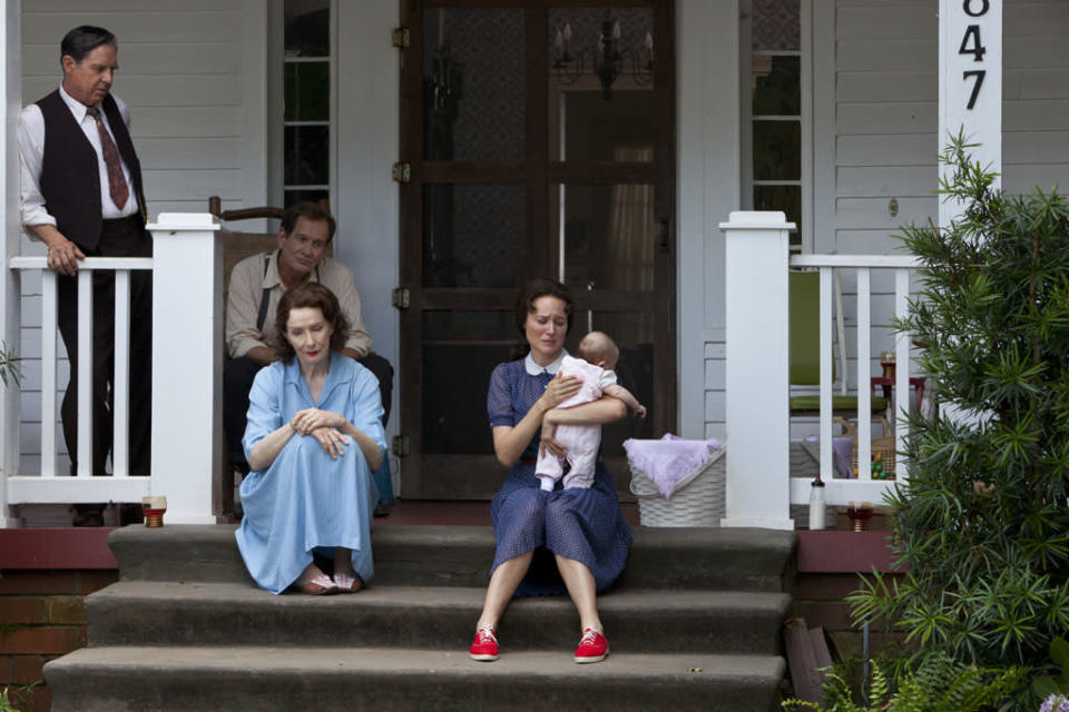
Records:
[[[939,151],[964,132],[972,159],[1002,172],[1002,0],[939,0]],[[941,164],[940,177],[948,175]],[[996,187],[1001,180],[996,180]],[[939,225],[961,212],[939,201]]]

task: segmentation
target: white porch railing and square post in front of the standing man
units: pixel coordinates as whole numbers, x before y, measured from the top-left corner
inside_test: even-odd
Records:
[[[0,462],[0,526],[18,523],[11,506],[45,503],[140,502],[143,496],[167,497],[169,523],[214,523],[215,464],[222,443],[222,259],[208,214],[161,214],[148,226],[154,237],[150,258],[87,258],[78,276],[78,472],[57,472],[57,279],[45,257],[12,256],[0,279],[11,280],[8,294],[20,294],[21,278],[41,274],[41,434],[40,472],[19,472],[19,438],[6,438]],[[91,402],[91,279],[96,270],[114,270],[115,380],[112,474],[92,476]],[[151,475],[130,473],[129,320],[130,273],[153,270],[153,427]],[[9,303],[2,329],[11,334],[22,324],[18,299]],[[14,329],[17,332],[17,328]],[[8,344],[22,353],[21,344]],[[6,413],[21,422],[21,393],[3,389]]]

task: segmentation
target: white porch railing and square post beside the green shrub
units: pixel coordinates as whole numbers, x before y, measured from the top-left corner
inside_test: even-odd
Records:
[[[894,314],[905,316],[913,257],[872,255],[802,255],[790,257],[788,230],[782,212],[732,212],[720,228],[726,234],[726,419],[730,444],[727,458],[727,515],[724,526],[793,528],[791,504],[805,504],[810,481],[790,477],[790,324],[788,269],[820,270],[820,472],[828,504],[853,501],[880,503],[892,485],[874,481],[869,467],[857,478],[833,477],[833,277],[834,270],[856,276],[857,462],[869,463],[872,446],[870,363],[872,346],[871,276],[873,270],[894,275]],[[910,338],[894,339],[896,449],[908,432],[903,418],[910,394]],[[845,374],[843,377],[845,378]],[[899,482],[905,464],[895,465]]]

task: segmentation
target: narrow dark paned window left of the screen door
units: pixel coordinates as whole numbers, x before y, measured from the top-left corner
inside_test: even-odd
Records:
[[[285,0],[283,205],[330,199],[334,182],[331,0]]]

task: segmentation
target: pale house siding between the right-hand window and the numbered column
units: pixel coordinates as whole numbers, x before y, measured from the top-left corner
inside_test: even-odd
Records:
[[[818,228],[817,251],[894,254],[900,226],[938,219],[936,127],[939,18],[935,0],[840,0],[834,16],[834,123],[826,127],[834,164],[814,176],[831,196],[827,224]],[[834,134],[831,134],[834,130]],[[891,200],[898,202],[892,215]],[[893,314],[890,274],[872,276],[872,363],[879,375],[881,350],[894,346],[887,326]],[[847,375],[857,383],[855,285],[843,275]],[[864,380],[864,378],[862,379]]]

